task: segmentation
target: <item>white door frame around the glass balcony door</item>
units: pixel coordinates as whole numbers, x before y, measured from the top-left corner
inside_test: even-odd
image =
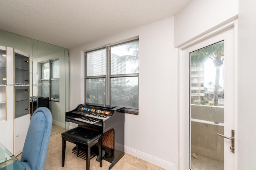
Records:
[[[184,49],[204,41],[224,30],[234,27],[234,130],[235,130],[235,155],[234,155],[234,169],[237,169],[238,154],[238,127],[237,127],[237,117],[238,117],[238,57],[237,57],[237,44],[238,44],[238,23],[237,16],[224,21],[220,25],[209,29],[208,31],[194,37],[189,42],[184,43],[178,47],[178,169],[179,170],[189,170],[189,152],[190,152],[190,136],[189,136],[189,117],[187,116],[190,109],[190,99],[189,99],[189,86],[190,80],[188,80],[187,75],[189,75],[189,57],[185,58],[183,56]],[[186,69],[185,69],[186,68]],[[231,142],[230,142],[231,143]]]

